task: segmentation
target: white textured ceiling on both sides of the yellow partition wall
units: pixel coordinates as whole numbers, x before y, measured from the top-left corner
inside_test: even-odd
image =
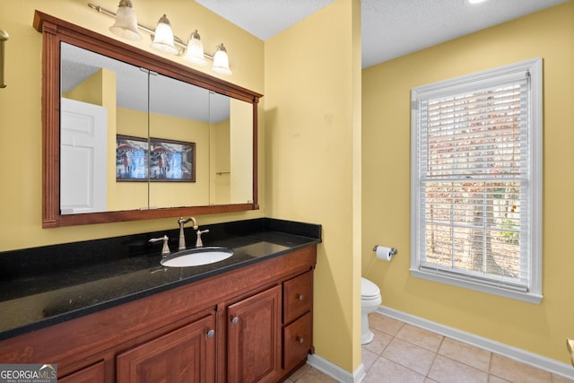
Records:
[[[196,0],[269,39],[333,0]],[[361,0],[362,67],[455,39],[569,0]]]

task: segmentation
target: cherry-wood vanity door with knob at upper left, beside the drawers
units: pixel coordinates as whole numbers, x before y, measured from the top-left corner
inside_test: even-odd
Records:
[[[281,292],[275,286],[228,307],[228,383],[280,376]]]

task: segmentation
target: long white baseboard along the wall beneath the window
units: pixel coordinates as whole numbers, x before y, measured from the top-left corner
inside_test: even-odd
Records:
[[[574,369],[570,364],[562,363],[561,361],[555,361],[535,353],[530,353],[508,344],[501,344],[479,335],[457,330],[453,327],[443,326],[439,323],[432,322],[431,320],[415,317],[411,314],[406,314],[402,311],[390,309],[385,306],[380,306],[377,309],[377,312],[387,317],[400,320],[401,322],[432,331],[439,335],[448,336],[451,339],[455,339],[465,344],[481,347],[484,350],[490,351],[491,353],[498,353],[499,355],[506,356],[507,358],[513,359],[515,361],[520,361],[537,369],[546,370],[563,378],[574,379]],[[564,346],[564,350],[564,352],[566,352],[566,346]]]

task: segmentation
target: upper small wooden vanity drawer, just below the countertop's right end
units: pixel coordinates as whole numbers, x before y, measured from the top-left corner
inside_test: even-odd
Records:
[[[311,309],[313,273],[300,274],[283,283],[283,324],[289,324]]]

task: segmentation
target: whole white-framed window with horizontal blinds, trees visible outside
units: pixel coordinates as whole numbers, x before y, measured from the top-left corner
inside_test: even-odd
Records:
[[[542,300],[542,59],[412,91],[411,273]]]

